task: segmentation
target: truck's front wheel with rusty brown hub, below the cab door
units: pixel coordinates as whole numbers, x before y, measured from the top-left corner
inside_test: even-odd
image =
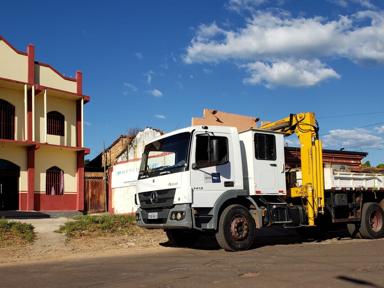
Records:
[[[226,251],[247,250],[255,236],[255,222],[242,205],[230,205],[220,215],[216,240]]]

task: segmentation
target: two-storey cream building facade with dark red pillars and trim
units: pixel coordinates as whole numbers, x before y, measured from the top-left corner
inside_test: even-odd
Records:
[[[75,75],[75,78],[65,77],[50,65],[35,61],[33,45],[28,45],[26,52],[18,51],[0,36],[0,101],[7,107],[14,106],[13,119],[11,114],[2,112],[7,114],[6,122],[12,121],[5,125],[1,120],[2,130],[11,127],[12,133],[8,131],[4,136],[2,131],[0,139],[0,182],[7,181],[8,172],[4,167],[19,170],[17,197],[7,200],[3,196],[3,207],[83,210],[84,156],[89,154],[83,144],[83,105],[89,96],[83,95],[82,73],[77,71]],[[48,131],[51,124],[47,123],[47,113],[51,111],[64,116],[63,136]],[[60,168],[62,173],[59,195],[47,191],[46,174],[51,167]],[[0,184],[4,195],[7,193],[4,189],[10,184],[7,187]],[[13,203],[15,199],[18,203]]]

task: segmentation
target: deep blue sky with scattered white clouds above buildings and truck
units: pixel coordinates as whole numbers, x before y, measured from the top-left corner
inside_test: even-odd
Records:
[[[2,11],[0,34],[15,48],[33,43],[36,61],[83,72],[89,159],[129,127],[173,131],[204,108],[270,121],[311,111],[319,134],[337,132],[323,147],[384,145],[384,113],[322,119],[384,111],[380,0],[36,1]],[[362,150],[365,160],[384,163],[383,148]]]

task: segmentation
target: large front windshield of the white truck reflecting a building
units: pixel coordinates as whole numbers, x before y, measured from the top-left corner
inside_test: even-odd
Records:
[[[144,148],[139,179],[155,173],[179,172],[177,168],[187,166],[190,132],[175,134],[152,143]]]

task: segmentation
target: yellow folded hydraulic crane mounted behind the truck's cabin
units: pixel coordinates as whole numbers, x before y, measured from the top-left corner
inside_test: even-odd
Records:
[[[301,187],[287,187],[287,197],[303,197],[306,201],[309,226],[313,226],[318,213],[324,213],[323,150],[319,141],[314,113],[290,114],[289,117],[263,125],[260,129],[293,133],[300,140]]]

